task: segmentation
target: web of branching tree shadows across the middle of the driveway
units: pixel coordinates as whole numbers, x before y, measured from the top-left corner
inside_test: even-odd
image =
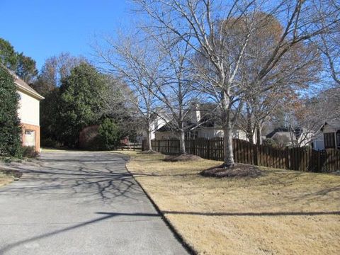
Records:
[[[51,159],[51,162],[43,159],[39,167],[17,167],[25,173],[21,183],[1,189],[0,195],[83,197],[89,202],[119,197],[136,200],[136,195],[143,194],[133,176],[126,171],[123,157],[101,157],[100,161],[98,156],[88,157],[85,161]]]

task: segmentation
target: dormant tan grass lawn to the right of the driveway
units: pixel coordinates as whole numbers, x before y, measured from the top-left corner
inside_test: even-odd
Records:
[[[340,176],[263,169],[257,179],[211,179],[221,164],[163,162],[123,152],[128,169],[198,254],[339,254]]]

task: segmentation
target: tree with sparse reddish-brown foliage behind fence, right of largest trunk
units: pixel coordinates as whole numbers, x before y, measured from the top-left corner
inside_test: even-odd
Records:
[[[266,29],[266,26],[264,28]],[[273,34],[270,29],[266,29],[266,33],[259,34],[259,41],[268,40],[270,37],[268,35],[277,38],[278,34],[280,32]],[[268,44],[267,42],[266,45]],[[266,56],[259,45],[263,43],[251,47],[251,54],[249,54],[251,57],[246,57],[246,64],[241,67],[244,80],[251,81],[251,77],[254,77],[254,69],[263,61],[263,56]],[[256,88],[257,92],[254,92],[253,88],[245,91],[245,109],[240,115],[242,121],[239,121],[239,125],[241,124],[249,141],[252,142],[256,132],[257,143],[261,145],[263,123],[268,120],[278,105],[289,103],[295,96],[295,91],[308,89],[310,84],[316,83],[319,80],[321,65],[315,45],[295,45],[285,56],[285,60],[276,66],[274,75],[267,75],[261,81]],[[272,86],[272,89],[266,90],[269,86]]]

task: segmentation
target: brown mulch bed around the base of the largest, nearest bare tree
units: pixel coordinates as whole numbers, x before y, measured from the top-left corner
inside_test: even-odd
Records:
[[[263,174],[258,166],[249,164],[235,164],[229,168],[223,168],[222,166],[213,167],[200,172],[200,175],[205,177],[217,177],[217,178],[256,178]]]

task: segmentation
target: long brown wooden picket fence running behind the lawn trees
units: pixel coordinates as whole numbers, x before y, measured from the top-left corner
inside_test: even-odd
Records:
[[[146,141],[143,141],[142,149]],[[297,171],[331,172],[340,170],[340,150],[314,151],[310,148],[276,149],[267,145],[253,145],[233,139],[234,160],[237,163],[254,164]],[[152,140],[152,149],[163,154],[178,154],[179,140]],[[223,138],[186,140],[186,152],[203,159],[223,160]]]

